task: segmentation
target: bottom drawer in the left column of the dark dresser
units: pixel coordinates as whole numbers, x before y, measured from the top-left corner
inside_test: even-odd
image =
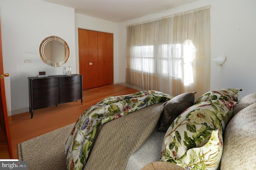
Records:
[[[38,98],[38,99],[34,99],[33,108],[34,109],[46,108],[49,106],[56,105],[59,102],[60,102],[60,96],[52,96],[49,98]]]

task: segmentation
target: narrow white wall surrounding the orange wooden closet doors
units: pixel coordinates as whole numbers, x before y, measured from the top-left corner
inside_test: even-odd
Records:
[[[76,72],[79,73],[79,55],[78,55],[78,28],[86,30],[94,30],[100,32],[112,33],[114,36],[114,83],[118,82],[118,24],[85,16],[75,14],[76,22]]]

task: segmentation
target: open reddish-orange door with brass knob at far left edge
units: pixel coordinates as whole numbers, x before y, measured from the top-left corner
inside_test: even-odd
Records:
[[[4,131],[4,134],[6,135],[7,141],[6,144],[8,144],[10,157],[12,158],[12,145],[11,145],[11,138],[10,138],[10,132],[9,132],[9,123],[8,123],[8,114],[7,114],[7,108],[6,108],[6,98],[5,98],[5,88],[4,88],[4,76],[9,76],[9,74],[4,74],[4,68],[3,68],[3,54],[2,54],[2,36],[1,36],[1,27],[0,27],[0,123],[1,123],[1,129]]]

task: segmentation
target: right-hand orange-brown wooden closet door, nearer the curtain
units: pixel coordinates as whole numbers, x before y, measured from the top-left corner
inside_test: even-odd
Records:
[[[113,34],[98,32],[99,86],[114,83]]]

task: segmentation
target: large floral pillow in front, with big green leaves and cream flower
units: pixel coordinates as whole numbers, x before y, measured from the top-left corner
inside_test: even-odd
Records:
[[[233,116],[232,108],[236,103],[230,100],[210,100],[185,110],[167,130],[160,160],[186,167],[186,152],[204,146],[213,130],[224,131]]]

